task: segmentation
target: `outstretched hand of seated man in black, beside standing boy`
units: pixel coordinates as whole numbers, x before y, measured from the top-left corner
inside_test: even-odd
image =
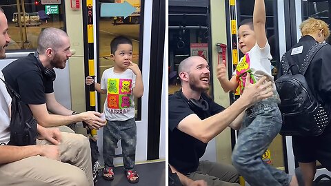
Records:
[[[77,114],[77,116],[81,116],[83,121],[89,125],[90,128],[99,130],[99,128],[106,125],[106,119],[101,119],[102,114],[99,112],[88,111]]]

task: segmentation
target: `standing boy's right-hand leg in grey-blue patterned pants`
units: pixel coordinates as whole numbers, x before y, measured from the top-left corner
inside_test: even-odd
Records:
[[[123,123],[124,124],[124,123]],[[134,168],[136,159],[137,126],[134,118],[126,121],[121,127],[121,145],[123,164],[126,171]]]

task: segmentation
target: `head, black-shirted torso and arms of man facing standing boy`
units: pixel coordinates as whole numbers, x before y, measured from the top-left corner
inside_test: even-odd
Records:
[[[13,61],[2,72],[10,86],[21,95],[21,100],[29,105],[39,125],[56,127],[84,121],[90,128],[99,129],[106,125],[99,112],[77,114],[55,99],[53,68],[65,68],[71,55],[68,34],[58,28],[46,28],[39,34],[37,52]],[[61,129],[72,132],[65,127]]]

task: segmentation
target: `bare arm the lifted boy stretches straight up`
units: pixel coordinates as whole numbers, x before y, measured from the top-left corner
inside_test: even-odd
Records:
[[[267,36],[265,33],[265,4],[264,0],[255,0],[253,12],[253,25],[257,45],[259,48],[264,48],[267,43]]]

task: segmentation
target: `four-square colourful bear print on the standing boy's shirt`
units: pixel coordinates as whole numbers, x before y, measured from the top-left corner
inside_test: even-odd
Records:
[[[130,111],[132,79],[108,79],[107,101],[112,113]]]

